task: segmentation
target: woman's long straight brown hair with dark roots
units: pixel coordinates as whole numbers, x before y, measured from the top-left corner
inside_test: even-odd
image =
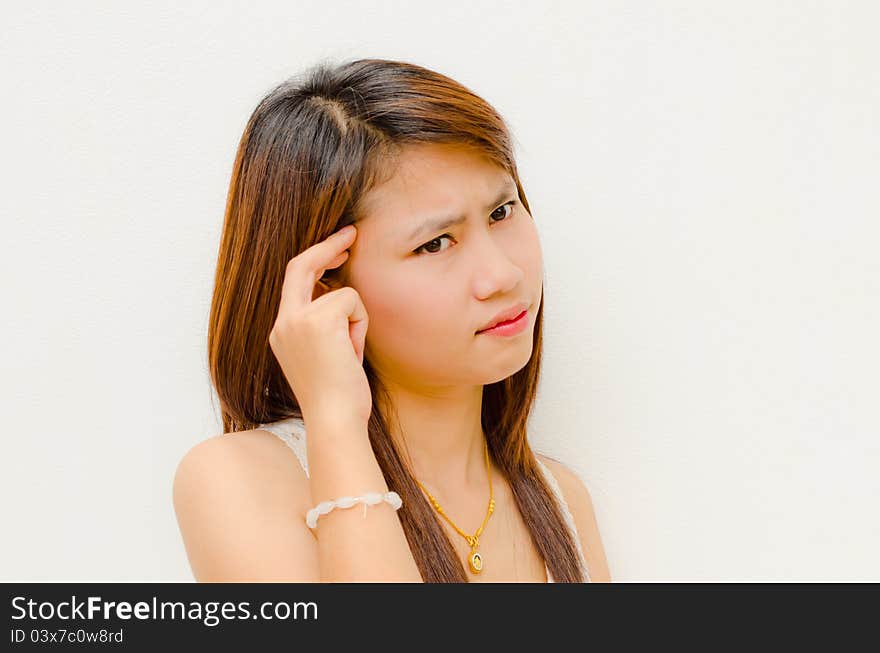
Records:
[[[531,215],[510,130],[481,97],[424,67],[385,59],[321,61],[273,88],[245,127],[232,170],[208,324],[208,366],[224,432],[302,417],[268,343],[287,262],[361,215],[361,199],[411,143],[475,148],[513,177]],[[528,364],[483,386],[489,455],[557,582],[583,582],[577,549],[526,434],[541,368],[543,294]],[[387,390],[365,357],[368,430],[425,582],[467,582],[434,508],[389,430]]]

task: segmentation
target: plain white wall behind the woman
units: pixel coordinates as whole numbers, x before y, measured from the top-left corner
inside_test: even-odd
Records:
[[[320,57],[512,124],[545,250],[533,446],[617,581],[880,581],[880,5],[14,3],[0,580],[190,581],[177,462],[235,147]]]

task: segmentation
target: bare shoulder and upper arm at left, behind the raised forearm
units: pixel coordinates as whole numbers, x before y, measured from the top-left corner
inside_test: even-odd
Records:
[[[310,577],[308,479],[275,436],[252,429],[196,443],[177,465],[172,494],[197,580]]]

